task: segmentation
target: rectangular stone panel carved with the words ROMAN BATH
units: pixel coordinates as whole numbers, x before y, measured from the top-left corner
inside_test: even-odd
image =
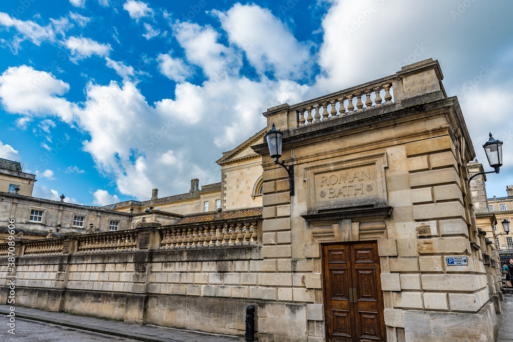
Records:
[[[339,169],[315,175],[316,202],[377,196],[374,165]]]

